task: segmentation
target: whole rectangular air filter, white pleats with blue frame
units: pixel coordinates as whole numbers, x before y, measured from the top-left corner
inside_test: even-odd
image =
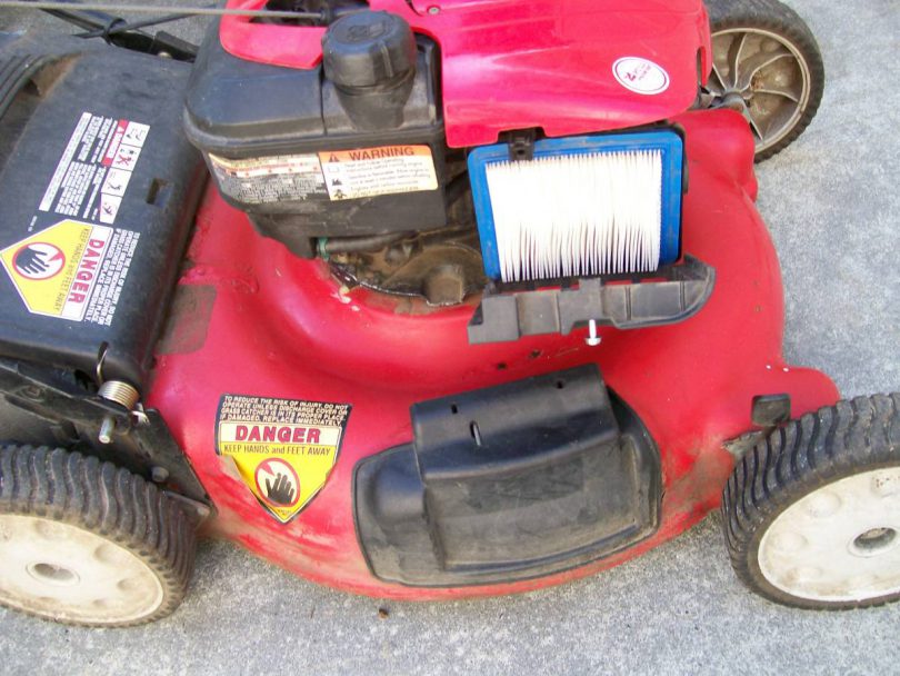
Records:
[[[679,256],[683,143],[674,131],[548,139],[469,155],[484,271],[524,281],[651,272]]]

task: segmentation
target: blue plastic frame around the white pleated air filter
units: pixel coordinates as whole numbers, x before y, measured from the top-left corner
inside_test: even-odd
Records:
[[[681,190],[684,143],[673,130],[643,131],[603,136],[581,136],[536,141],[534,158],[569,155],[611,153],[631,150],[658,150],[662,159],[662,209],[659,265],[678,260],[681,240]],[[500,279],[500,255],[488,186],[488,166],[509,161],[509,146],[482,146],[469,153],[469,180],[472,186],[478,235],[484,272]]]

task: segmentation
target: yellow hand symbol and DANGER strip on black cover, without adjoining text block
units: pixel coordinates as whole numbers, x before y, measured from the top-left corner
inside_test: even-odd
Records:
[[[113,229],[63,220],[0,251],[29,311],[84,319]]]

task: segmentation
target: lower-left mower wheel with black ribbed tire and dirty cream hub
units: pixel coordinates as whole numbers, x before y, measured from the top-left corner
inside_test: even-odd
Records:
[[[194,527],[177,500],[111,463],[0,448],[0,604],[64,624],[124,627],[178,607]]]

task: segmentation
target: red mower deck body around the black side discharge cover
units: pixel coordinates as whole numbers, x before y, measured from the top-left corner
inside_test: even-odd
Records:
[[[396,598],[522,592],[613,566],[681,533],[719,503],[732,458],[722,443],[750,429],[754,395],[787,392],[799,416],[833,404],[822,374],[784,365],[778,259],[752,199],[753,145],[730,111],[688,113],[690,165],[683,248],[717,270],[707,306],[681,324],[470,346],[472,307],[422,312],[408,300],[342,289],[319,261],[299,260],[259,237],[213,190],[199,215],[180,280],[204,292],[183,306],[177,339],[158,355],[149,405],[162,411],[218,508],[213,535],[312,580]],[[214,302],[212,299],[214,298]],[[656,535],[579,569],[514,584],[421,589],[376,579],[353,526],[359,459],[412,439],[416,401],[594,361],[641,417],[662,460]],[[260,507],[230,458],[216,454],[223,392],[352,405],[340,457],[322,491],[289,524]]]

